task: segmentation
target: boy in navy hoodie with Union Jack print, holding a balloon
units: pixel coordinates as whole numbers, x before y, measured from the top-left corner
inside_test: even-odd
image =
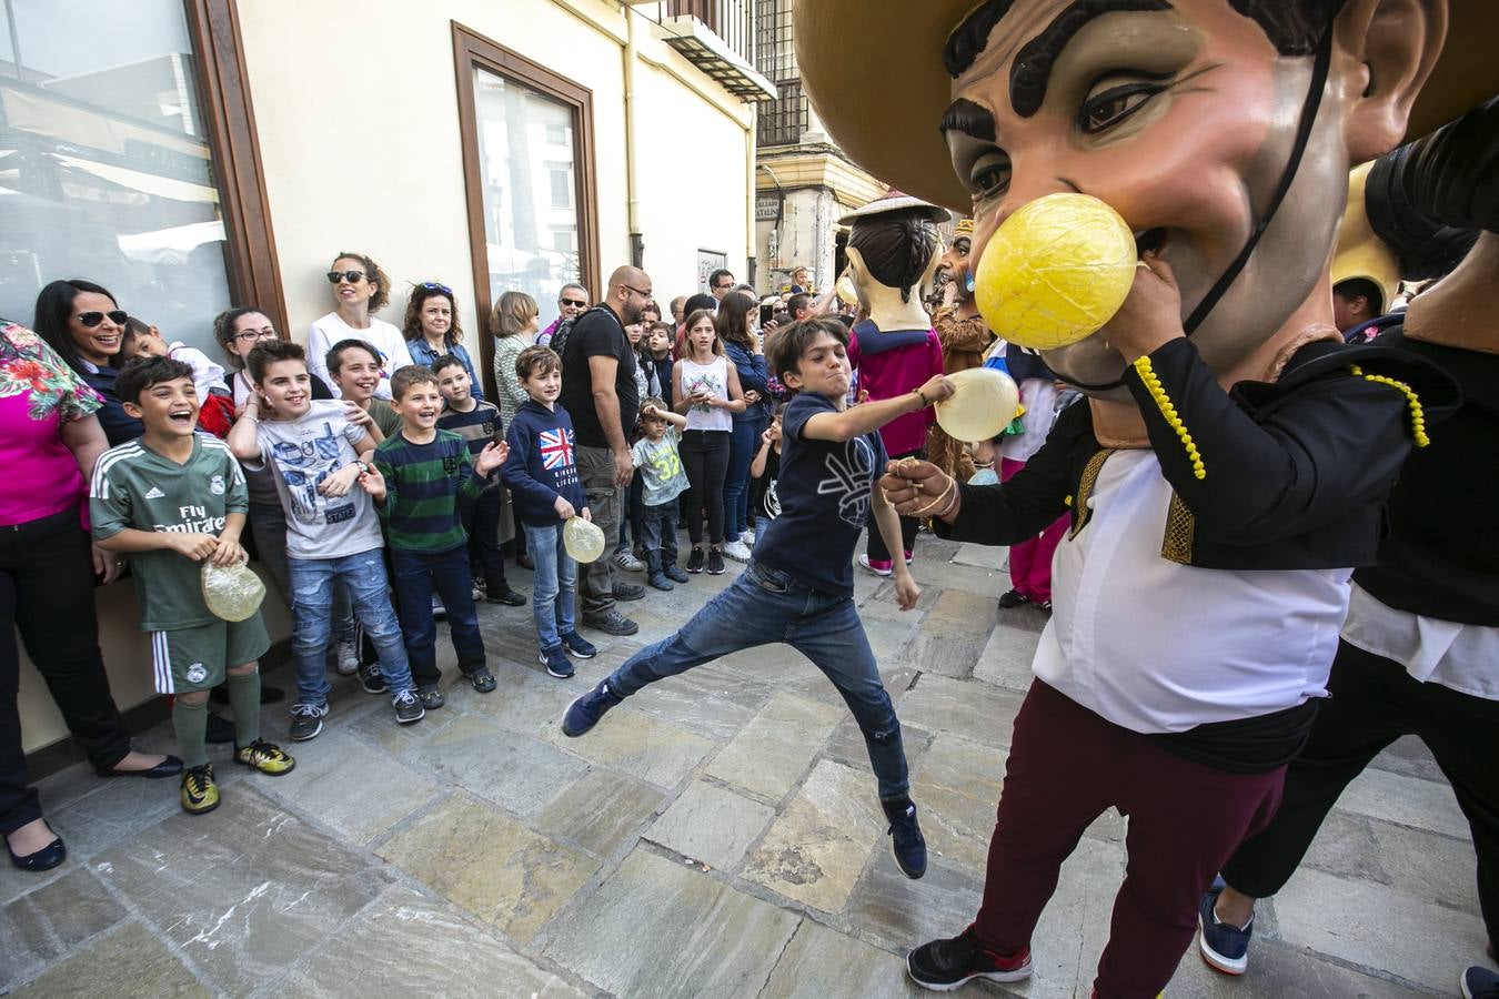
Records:
[[[526,347],[516,356],[516,377],[531,397],[510,422],[510,458],[499,475],[510,487],[516,521],[526,532],[535,562],[531,607],[537,620],[540,661],[553,677],[573,675],[567,653],[591,659],[598,650],[577,634],[573,596],[577,563],[562,547],[562,524],[592,520],[577,476],[573,419],[558,404],[562,361],[552,347]]]

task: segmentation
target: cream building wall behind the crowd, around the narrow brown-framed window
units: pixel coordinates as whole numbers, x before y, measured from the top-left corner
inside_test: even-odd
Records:
[[[322,276],[340,250],[369,253],[391,276],[382,319],[400,325],[409,285],[436,279],[454,289],[465,327],[477,330],[451,21],[592,90],[603,277],[630,261],[619,4],[238,0],[238,12],[294,338],[306,341],[309,324],[331,310]],[[729,267],[744,270],[752,118],[651,25],[637,19],[636,34],[640,225],[666,310],[672,295],[696,291],[697,247],[724,250]],[[115,702],[129,708],[151,696],[130,586],[100,590],[97,607]],[[274,587],[267,608],[273,640],[285,638]],[[19,708],[27,752],[66,735],[30,665],[21,671]]]

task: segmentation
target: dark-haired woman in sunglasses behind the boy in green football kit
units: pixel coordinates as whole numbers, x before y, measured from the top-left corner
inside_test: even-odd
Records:
[[[36,318],[31,328],[67,362],[73,371],[99,392],[99,425],[109,446],[135,440],[144,431],[141,421],[124,412],[114,394],[114,379],[120,371],[109,362],[124,346],[124,324],[129,316],[105,288],[73,277],[51,282],[36,297]]]

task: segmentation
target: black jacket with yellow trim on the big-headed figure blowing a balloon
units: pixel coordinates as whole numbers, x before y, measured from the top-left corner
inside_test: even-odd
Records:
[[[1177,338],[1124,380],[1174,490],[1162,556],[1204,569],[1373,565],[1412,440],[1462,398],[1421,358],[1334,341],[1297,350],[1276,382],[1225,392],[1192,341]],[[1109,454],[1090,407],[1073,404],[1007,482],[961,487],[958,518],[937,533],[1009,545],[1070,511],[1075,536]]]

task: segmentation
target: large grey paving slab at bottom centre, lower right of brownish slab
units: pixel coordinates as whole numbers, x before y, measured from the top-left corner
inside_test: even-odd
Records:
[[[616,996],[755,996],[799,921],[636,849],[555,929],[546,956]]]

